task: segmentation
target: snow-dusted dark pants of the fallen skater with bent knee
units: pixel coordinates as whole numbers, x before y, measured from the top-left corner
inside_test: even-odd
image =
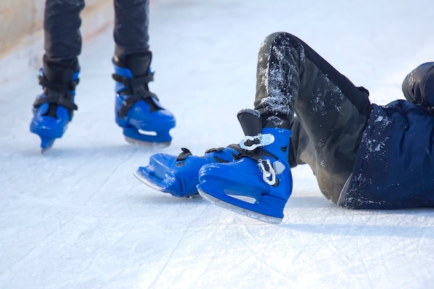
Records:
[[[263,123],[290,123],[290,166],[309,164],[322,193],[338,202],[351,175],[371,104],[307,44],[289,33],[264,40],[254,101]]]

